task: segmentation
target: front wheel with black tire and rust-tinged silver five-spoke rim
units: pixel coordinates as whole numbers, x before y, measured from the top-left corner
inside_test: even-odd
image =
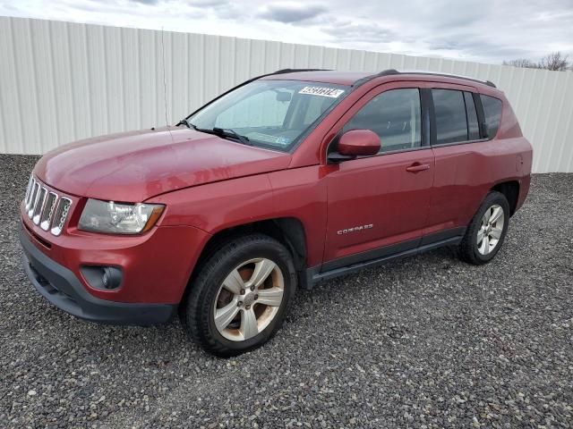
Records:
[[[232,239],[194,277],[182,304],[184,329],[219,357],[256,349],[282,325],[295,289],[295,265],[285,246],[263,234]]]

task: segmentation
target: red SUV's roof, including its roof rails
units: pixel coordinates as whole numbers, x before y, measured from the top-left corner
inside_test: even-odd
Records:
[[[413,76],[416,77],[426,77],[426,79],[422,80],[429,80],[429,77],[439,77],[440,80],[470,80],[474,83],[479,83],[482,85],[487,85],[492,88],[496,88],[495,85],[489,80],[476,80],[474,78],[470,78],[468,76],[459,76],[454,74],[444,74],[444,73],[437,73],[432,71],[397,71],[394,69],[389,69],[385,71],[381,71],[379,73],[372,73],[367,71],[336,71],[336,70],[319,70],[319,69],[306,69],[306,70],[295,70],[295,69],[285,69],[275,71],[274,73],[270,73],[268,75],[262,76],[261,79],[265,80],[310,80],[315,82],[322,82],[322,83],[332,83],[337,85],[360,85],[365,81],[372,80],[379,77],[384,76],[395,76],[400,75],[407,78],[412,78]]]

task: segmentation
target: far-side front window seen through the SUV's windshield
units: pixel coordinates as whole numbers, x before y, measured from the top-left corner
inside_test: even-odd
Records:
[[[280,95],[271,89],[245,97],[219,114],[215,126],[232,129],[280,127],[285,120],[293,91],[283,91],[283,93],[280,102],[277,101]]]

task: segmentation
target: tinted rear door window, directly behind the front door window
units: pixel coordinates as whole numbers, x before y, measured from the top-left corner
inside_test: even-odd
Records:
[[[436,116],[436,144],[467,140],[466,103],[462,91],[432,89]]]

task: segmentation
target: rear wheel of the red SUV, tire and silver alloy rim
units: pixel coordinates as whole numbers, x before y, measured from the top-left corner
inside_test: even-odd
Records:
[[[502,193],[492,191],[483,199],[472,222],[467,226],[459,245],[459,257],[469,264],[487,264],[500,251],[508,227],[508,199]]]

